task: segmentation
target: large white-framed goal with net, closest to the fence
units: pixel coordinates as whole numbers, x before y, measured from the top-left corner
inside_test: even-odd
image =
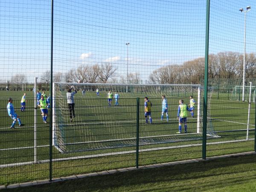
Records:
[[[75,88],[75,118],[70,122],[67,90]],[[98,91],[97,91],[98,90]],[[107,101],[113,93],[111,106]],[[60,152],[87,151],[136,145],[137,98],[140,98],[140,145],[173,143],[202,138],[203,105],[200,85],[186,84],[53,84],[53,144]],[[74,90],[72,90],[74,91]],[[97,94],[98,92],[98,94]],[[119,95],[116,105],[115,94]],[[161,96],[168,101],[169,122],[161,121]],[[208,90],[208,111],[212,90]],[[145,125],[144,97],[152,102],[152,125]],[[179,99],[189,103],[193,96],[195,118],[191,118],[188,134],[177,134],[177,106]],[[207,137],[216,138],[210,113],[207,120]]]

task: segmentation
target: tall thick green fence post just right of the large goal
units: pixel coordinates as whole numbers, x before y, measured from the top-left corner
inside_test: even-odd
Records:
[[[206,28],[206,32],[205,32],[205,56],[204,56],[204,111],[203,111],[203,140],[202,140],[202,158],[203,159],[206,159],[209,15],[210,15],[210,0],[207,0],[207,4],[206,4],[206,27],[205,27]]]

